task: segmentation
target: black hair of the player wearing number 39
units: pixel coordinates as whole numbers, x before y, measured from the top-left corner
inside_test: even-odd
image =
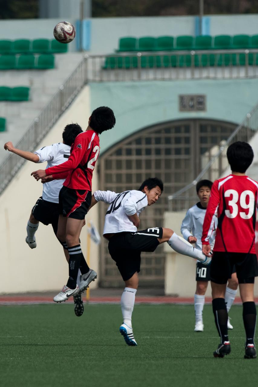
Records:
[[[253,149],[247,142],[233,142],[227,148],[227,159],[233,172],[244,173],[253,162]]]

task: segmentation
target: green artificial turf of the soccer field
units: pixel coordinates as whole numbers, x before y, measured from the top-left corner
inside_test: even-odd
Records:
[[[220,359],[212,307],[193,332],[193,306],[136,305],[137,347],[119,334],[119,305],[0,307],[1,387],[253,387],[258,359],[244,360],[242,307],[230,311],[232,352]]]

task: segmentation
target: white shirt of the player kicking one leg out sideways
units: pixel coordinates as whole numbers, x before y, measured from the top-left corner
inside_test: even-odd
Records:
[[[109,203],[104,223],[103,234],[121,233],[123,231],[136,232],[128,215],[141,213],[148,205],[146,194],[142,191],[125,191],[121,194],[116,194],[112,191],[95,191],[94,197],[97,202],[102,201]]]

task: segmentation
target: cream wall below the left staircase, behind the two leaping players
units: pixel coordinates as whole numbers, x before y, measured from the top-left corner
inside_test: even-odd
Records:
[[[67,123],[77,122],[83,130],[88,126],[90,91],[86,86],[70,108],[60,117],[40,147],[62,141]],[[11,138],[10,138],[11,140]],[[68,265],[63,249],[52,227],[40,224],[36,233],[37,247],[31,250],[25,243],[26,225],[33,205],[41,196],[42,186],[30,176],[45,164],[26,161],[14,180],[0,196],[0,293],[60,290],[68,278]],[[93,190],[96,190],[97,171],[94,171]],[[86,220],[97,226],[98,206],[93,207]],[[81,245],[86,257],[87,232],[84,226]],[[91,242],[90,266],[98,271],[98,248]],[[93,283],[96,286],[97,282]],[[55,295],[55,294],[53,294]]]

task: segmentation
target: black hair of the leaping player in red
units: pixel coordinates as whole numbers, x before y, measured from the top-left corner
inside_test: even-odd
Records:
[[[91,113],[89,126],[98,134],[105,132],[105,130],[112,129],[115,126],[115,116],[113,110],[107,106],[100,106],[99,108],[96,108]]]

